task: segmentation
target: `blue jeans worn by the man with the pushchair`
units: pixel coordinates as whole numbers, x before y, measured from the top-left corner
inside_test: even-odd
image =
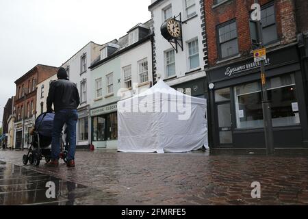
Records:
[[[53,140],[51,142],[51,159],[59,159],[60,157],[60,140],[64,124],[68,128],[70,143],[66,159],[68,161],[75,159],[77,120],[77,110],[65,109],[55,112],[55,118],[53,119]]]

